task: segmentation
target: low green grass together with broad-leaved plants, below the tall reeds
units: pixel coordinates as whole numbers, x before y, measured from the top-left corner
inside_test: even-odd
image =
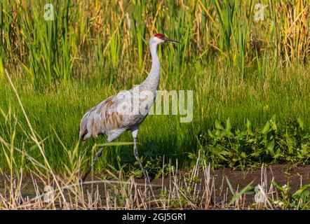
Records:
[[[180,123],[180,116],[148,116],[138,137],[144,164],[153,161],[155,164],[149,165],[153,167],[150,169],[159,172],[159,161],[165,155],[166,160],[175,162],[177,159],[181,167],[190,167],[198,151],[202,151],[215,167],[261,162],[307,164],[310,155],[307,70],[306,66],[290,71],[276,69],[266,74],[262,82],[255,78],[257,71],[242,80],[236,77],[236,71],[217,65],[189,71],[188,77],[182,79],[182,89],[194,91],[193,120]],[[166,78],[163,75],[160,89],[172,90],[175,85],[165,81]],[[110,94],[123,90],[123,86],[111,87],[95,80],[98,78],[90,74],[86,83],[76,81],[72,87],[38,92],[29,83],[13,79],[50,165],[57,172],[64,171],[64,165],[69,163],[67,151],[72,151],[79,142],[79,122],[83,113]],[[0,94],[1,137],[42,161],[6,79]],[[132,141],[131,134],[123,134],[116,141]],[[90,162],[95,153],[94,144],[102,143],[105,137],[79,143],[79,155],[86,155],[82,162]],[[1,155],[6,150],[3,147]],[[18,167],[27,165],[20,153],[14,152],[14,158]],[[8,168],[6,157],[1,156],[0,160],[1,169]],[[118,167],[119,162],[121,166],[126,165],[127,170],[131,165],[138,168],[134,165],[132,146],[108,147],[95,170],[100,171],[108,165]]]

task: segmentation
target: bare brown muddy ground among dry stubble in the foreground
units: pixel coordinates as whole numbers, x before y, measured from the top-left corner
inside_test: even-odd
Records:
[[[194,170],[194,169],[193,169]],[[180,171],[175,176],[168,176],[164,179],[156,179],[151,181],[152,185],[152,194],[154,193],[153,200],[160,200],[162,195],[162,191],[164,188],[171,190],[171,189],[177,189],[177,188],[183,188],[186,186],[186,181],[184,179],[189,178],[191,176],[192,171]],[[212,182],[212,186],[205,186],[205,174],[206,172],[197,172],[196,174],[196,180],[198,181],[198,184],[201,183],[201,186],[197,187],[199,190],[197,190],[197,195],[199,194],[199,191],[202,192],[205,190],[205,188],[210,188],[210,190],[213,192],[212,194],[214,197],[210,197],[210,201],[206,202],[208,204],[208,209],[221,209],[224,208],[224,205],[229,202],[231,199],[231,193],[228,190],[227,181],[225,179],[225,176],[227,179],[229,179],[231,185],[233,186],[234,190],[241,190],[245,186],[248,186],[249,183],[252,182],[252,186],[255,187],[258,184],[265,185],[267,188],[271,185],[271,181],[276,181],[280,183],[282,186],[284,184],[288,184],[292,188],[292,193],[294,193],[297,189],[299,189],[302,185],[309,184],[310,183],[310,165],[307,165],[305,167],[294,167],[290,168],[288,165],[272,165],[269,167],[266,167],[264,169],[257,169],[254,171],[242,171],[242,170],[233,170],[233,169],[215,169],[210,170],[210,182]],[[171,187],[174,185],[173,179],[178,178],[178,184],[180,186]],[[5,195],[5,190],[9,189],[10,184],[10,176],[8,175],[2,175],[0,176],[0,190],[1,194]],[[111,183],[104,183],[100,182],[102,181],[102,174],[95,174],[93,175],[93,179],[91,179],[91,176],[88,177],[86,180],[88,183],[92,184],[85,184],[83,186],[83,191],[86,194],[86,198],[88,197],[88,200],[92,197],[95,197],[95,194],[93,196],[89,195],[89,193],[95,192],[97,190],[98,195],[102,195],[102,201],[106,200],[107,197],[107,188],[111,189],[114,186],[118,186],[121,184],[122,181],[111,181]],[[107,180],[110,181],[110,180]],[[123,181],[128,181],[128,179],[123,179]],[[130,181],[129,181],[130,182]],[[129,183],[128,182],[128,183]],[[46,186],[46,183],[48,183],[48,180],[39,179],[36,176],[30,176],[25,175],[22,177],[22,184],[21,184],[21,192],[22,197],[37,197],[38,196],[38,189],[40,194],[43,193],[43,189]],[[144,180],[143,179],[135,179],[133,182],[130,182],[131,184],[135,184],[136,186],[140,186],[141,189],[145,189],[144,186]],[[53,180],[50,180],[51,186],[53,186]],[[130,185],[130,184],[129,184]],[[36,187],[35,187],[36,186]],[[194,186],[194,185],[193,185]],[[36,190],[35,190],[36,188]],[[126,187],[127,188],[127,187]],[[123,189],[126,189],[123,188]],[[196,188],[196,187],[195,187]],[[187,188],[188,190],[189,188]],[[186,191],[186,190],[185,190]],[[114,191],[115,192],[115,191]],[[117,191],[116,191],[117,192]],[[136,193],[136,192],[135,192]],[[123,194],[122,190],[119,190],[119,194]],[[128,192],[128,195],[133,194],[132,192]],[[186,194],[186,192],[185,192]],[[226,200],[225,200],[225,194]],[[127,197],[128,197],[127,195]],[[203,195],[203,193],[201,193]],[[147,198],[147,197],[146,197]],[[150,198],[150,197],[149,197]],[[175,197],[177,198],[177,197]],[[191,207],[194,208],[197,206],[197,208],[203,209],[205,202],[202,202],[201,200],[200,204],[192,204]],[[248,207],[250,204],[254,203],[254,196],[250,195],[249,197],[246,197],[245,200],[243,200],[243,207]],[[105,208],[105,207],[104,207]],[[133,207],[135,208],[135,207]],[[161,209],[161,207],[157,207],[155,204],[149,205],[149,208],[154,209]],[[113,208],[112,208],[113,209]],[[162,208],[164,209],[164,208]]]

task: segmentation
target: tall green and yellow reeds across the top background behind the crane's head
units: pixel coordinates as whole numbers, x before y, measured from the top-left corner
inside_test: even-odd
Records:
[[[177,85],[194,62],[203,66],[214,57],[231,62],[242,78],[263,57],[288,66],[310,54],[306,0],[263,0],[261,8],[254,0],[55,0],[54,20],[44,20],[44,3],[0,2],[1,76],[4,67],[18,69],[36,88],[69,85],[86,76],[82,68],[110,84],[120,73],[125,79],[132,70],[143,75],[147,40],[155,32],[182,42],[160,50],[163,73],[175,73]]]

